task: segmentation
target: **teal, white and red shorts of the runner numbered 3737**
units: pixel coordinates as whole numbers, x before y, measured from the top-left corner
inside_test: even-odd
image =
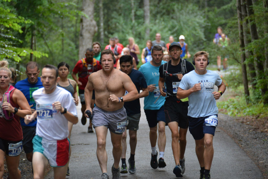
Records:
[[[50,166],[65,166],[69,161],[70,141],[68,138],[52,141],[38,135],[32,139],[33,152],[40,152],[49,161]]]

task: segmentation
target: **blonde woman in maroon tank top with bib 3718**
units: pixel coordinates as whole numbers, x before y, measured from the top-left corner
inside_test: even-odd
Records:
[[[23,138],[19,118],[32,112],[23,93],[9,85],[11,71],[7,66],[7,61],[0,61],[0,178],[4,175],[5,160],[9,177],[19,179]]]

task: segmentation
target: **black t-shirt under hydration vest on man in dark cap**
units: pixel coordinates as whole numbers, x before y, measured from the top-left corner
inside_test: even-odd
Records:
[[[188,72],[194,70],[194,66],[188,62],[188,61],[185,61],[185,65],[186,65],[186,70]],[[167,62],[167,65],[168,65],[168,69],[167,69],[167,72],[170,73],[170,74],[174,74],[174,73],[179,73],[179,72],[182,72],[182,68],[181,68],[181,63],[182,63],[182,59],[180,59],[180,63],[177,64],[176,66],[174,65],[171,65],[171,60]],[[166,64],[163,64],[164,65],[164,70],[166,70]],[[161,78],[164,78],[163,76],[163,65],[160,66],[159,68],[159,76]],[[185,74],[183,74],[185,75]],[[166,90],[167,90],[167,96],[169,95],[174,95],[172,96],[171,98],[174,98],[175,100],[177,100],[176,98],[176,94],[177,94],[177,90],[178,90],[178,87],[179,87],[179,84],[180,84],[180,80],[179,78],[177,78],[176,75],[167,75],[166,76]]]

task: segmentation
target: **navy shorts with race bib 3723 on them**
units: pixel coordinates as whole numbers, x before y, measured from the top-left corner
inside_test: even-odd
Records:
[[[216,115],[218,116],[218,115]],[[189,132],[194,137],[194,140],[200,140],[204,137],[205,134],[215,135],[215,126],[207,126],[205,124],[205,119],[209,116],[200,117],[200,118],[193,118],[188,116],[189,120]],[[195,121],[195,123],[191,123]]]

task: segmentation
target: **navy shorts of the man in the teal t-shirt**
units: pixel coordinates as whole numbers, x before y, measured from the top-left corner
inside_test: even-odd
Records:
[[[165,109],[164,106],[162,106],[160,109],[156,109],[156,110],[144,109],[149,127],[155,127],[157,125],[158,121],[163,121],[166,123],[164,109]]]

